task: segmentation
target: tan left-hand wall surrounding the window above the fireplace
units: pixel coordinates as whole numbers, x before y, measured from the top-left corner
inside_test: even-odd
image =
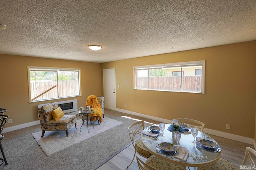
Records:
[[[12,124],[6,123],[4,127],[38,120],[38,104],[78,99],[79,108],[86,106],[86,99],[89,95],[103,95],[103,78],[100,63],[0,54],[0,64],[0,107],[7,109],[5,114],[9,115],[9,119],[12,119]],[[80,68],[82,96],[28,103],[27,66]]]

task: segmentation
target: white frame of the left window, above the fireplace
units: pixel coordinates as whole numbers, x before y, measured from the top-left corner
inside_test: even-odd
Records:
[[[48,71],[56,71],[57,72],[57,80],[56,80],[57,84],[58,84],[58,70],[60,70],[60,71],[78,71],[79,95],[57,97],[57,98],[50,98],[50,99],[32,101],[32,98],[31,98],[31,86],[30,86],[30,69],[38,69],[38,70],[42,69],[42,70],[48,70]],[[72,97],[76,97],[76,96],[82,96],[82,90],[81,90],[81,87],[82,87],[81,86],[82,85],[81,84],[81,69],[80,68],[60,68],[60,67],[44,67],[44,66],[27,66],[27,70],[28,70],[28,95],[29,95],[29,103],[42,102],[42,101],[55,100],[55,99],[63,99],[63,98],[72,98]]]

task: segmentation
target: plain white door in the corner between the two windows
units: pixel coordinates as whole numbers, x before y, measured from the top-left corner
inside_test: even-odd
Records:
[[[103,70],[104,107],[116,110],[116,69]]]

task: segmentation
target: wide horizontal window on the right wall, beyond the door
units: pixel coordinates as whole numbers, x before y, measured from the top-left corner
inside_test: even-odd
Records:
[[[204,64],[205,61],[191,61],[136,66],[134,89],[204,94]]]

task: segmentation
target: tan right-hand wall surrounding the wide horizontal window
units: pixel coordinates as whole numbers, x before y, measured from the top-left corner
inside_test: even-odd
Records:
[[[254,138],[255,47],[250,41],[103,63],[102,68],[116,68],[117,108],[170,120],[197,119],[208,129]],[[206,61],[205,94],[133,89],[133,66],[199,60]]]

